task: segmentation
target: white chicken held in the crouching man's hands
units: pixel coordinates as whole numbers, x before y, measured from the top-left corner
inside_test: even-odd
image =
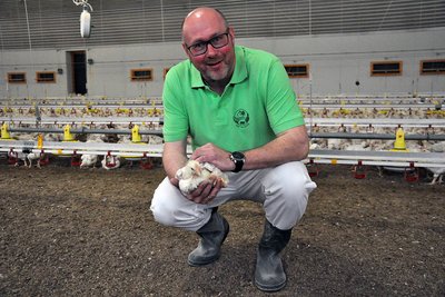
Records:
[[[189,160],[185,167],[176,172],[175,177],[179,180],[179,189],[184,195],[194,191],[204,180],[210,180],[211,182],[220,180],[222,187],[227,187],[229,182],[227,175],[219,168],[211,164],[200,164],[196,160]]]

